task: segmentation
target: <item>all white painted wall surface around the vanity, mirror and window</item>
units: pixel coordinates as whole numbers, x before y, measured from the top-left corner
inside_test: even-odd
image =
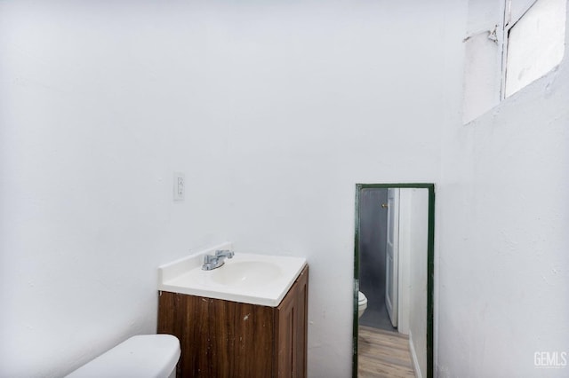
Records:
[[[155,332],[156,266],[233,240],[309,258],[309,374],[349,376],[355,183],[410,181],[437,374],[564,375],[566,54],[462,126],[467,4],[430,3],[0,2],[0,375]]]

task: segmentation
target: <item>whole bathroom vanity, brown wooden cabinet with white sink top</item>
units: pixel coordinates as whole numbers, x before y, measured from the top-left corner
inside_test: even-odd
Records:
[[[157,331],[180,339],[178,377],[306,376],[304,259],[236,253],[212,272],[168,268],[159,271]]]

